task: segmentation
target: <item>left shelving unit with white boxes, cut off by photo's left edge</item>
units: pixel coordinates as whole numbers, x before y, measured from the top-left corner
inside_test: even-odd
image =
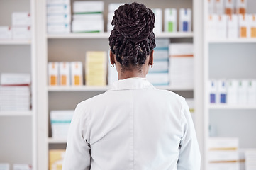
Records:
[[[0,2],[0,169],[36,169],[34,5]]]

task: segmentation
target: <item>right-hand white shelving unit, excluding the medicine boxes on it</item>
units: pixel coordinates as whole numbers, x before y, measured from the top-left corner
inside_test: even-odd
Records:
[[[255,13],[255,1],[247,12]],[[211,104],[210,79],[256,79],[256,38],[210,39],[207,34],[208,6],[204,1],[204,168],[208,169],[209,137],[238,137],[239,150],[256,148],[256,105]],[[211,129],[213,129],[210,132]],[[241,149],[242,148],[242,149]]]

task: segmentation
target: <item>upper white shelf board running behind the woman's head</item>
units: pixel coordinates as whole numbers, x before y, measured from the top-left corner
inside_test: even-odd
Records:
[[[48,34],[48,39],[76,39],[92,38],[106,39],[110,33],[67,33],[67,34]],[[155,33],[156,38],[193,38],[193,33]]]

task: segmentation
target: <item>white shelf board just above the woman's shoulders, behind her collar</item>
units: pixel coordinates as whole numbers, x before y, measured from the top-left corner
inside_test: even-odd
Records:
[[[110,86],[48,86],[48,91],[107,91]],[[166,89],[170,91],[193,91],[193,87],[172,87],[156,86],[157,89]]]

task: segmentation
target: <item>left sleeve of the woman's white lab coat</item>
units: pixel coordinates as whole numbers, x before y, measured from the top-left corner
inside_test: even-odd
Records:
[[[74,111],[67,137],[67,149],[62,170],[89,170],[91,166],[90,147],[84,135],[88,122],[81,104]]]

